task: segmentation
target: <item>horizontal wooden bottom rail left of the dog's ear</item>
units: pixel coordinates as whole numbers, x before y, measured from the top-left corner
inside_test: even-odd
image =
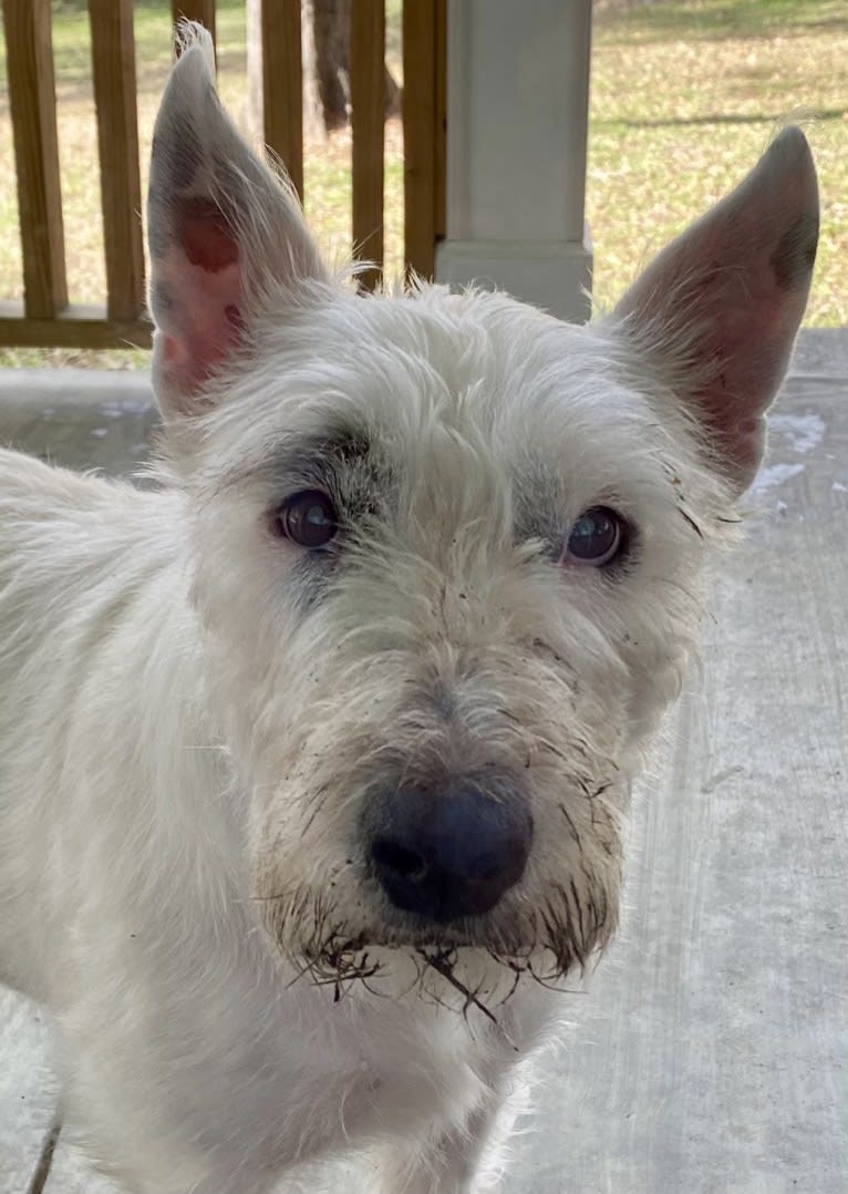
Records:
[[[69,306],[55,319],[24,315],[23,303],[0,302],[0,346],[41,349],[149,349],[146,319],[110,319],[105,307]]]

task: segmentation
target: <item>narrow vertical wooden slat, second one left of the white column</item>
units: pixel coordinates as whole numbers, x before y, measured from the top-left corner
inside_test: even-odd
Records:
[[[353,109],[353,251],[377,269],[359,277],[372,290],[383,267],[385,128],[385,5],[351,5],[351,106]]]

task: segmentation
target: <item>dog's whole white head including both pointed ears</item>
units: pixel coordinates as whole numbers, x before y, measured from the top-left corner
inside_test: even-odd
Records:
[[[779,139],[596,327],[361,298],[208,54],[154,146],[155,371],[256,906],[318,975],[562,975],[615,925],[630,783],[804,309],[806,144]]]

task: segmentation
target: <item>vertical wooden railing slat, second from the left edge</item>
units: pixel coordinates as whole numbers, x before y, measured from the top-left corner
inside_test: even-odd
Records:
[[[110,319],[144,307],[132,0],[88,0]]]

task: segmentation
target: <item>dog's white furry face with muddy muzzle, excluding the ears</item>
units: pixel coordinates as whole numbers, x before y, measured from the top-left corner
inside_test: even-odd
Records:
[[[346,295],[262,336],[188,484],[267,921],[292,952],[565,970],[615,922],[724,488],[603,337],[502,296]]]

